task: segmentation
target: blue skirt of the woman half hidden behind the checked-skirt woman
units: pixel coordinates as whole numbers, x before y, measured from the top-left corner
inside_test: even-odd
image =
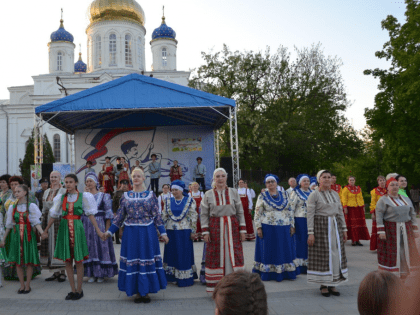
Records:
[[[308,222],[306,218],[295,218],[296,242],[295,265],[299,273],[306,274],[308,269]]]

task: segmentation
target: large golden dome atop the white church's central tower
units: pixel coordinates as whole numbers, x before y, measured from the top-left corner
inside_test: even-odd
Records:
[[[127,20],[144,26],[146,16],[136,0],[95,0],[88,10],[90,24],[99,21]]]

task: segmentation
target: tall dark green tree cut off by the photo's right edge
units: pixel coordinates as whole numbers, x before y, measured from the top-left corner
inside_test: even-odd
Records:
[[[382,29],[389,33],[380,59],[390,60],[387,70],[365,70],[366,75],[379,78],[380,92],[375,106],[365,109],[372,128],[372,139],[384,146],[383,163],[389,171],[404,174],[413,183],[420,182],[420,3],[406,0],[406,22],[401,25],[389,15]]]

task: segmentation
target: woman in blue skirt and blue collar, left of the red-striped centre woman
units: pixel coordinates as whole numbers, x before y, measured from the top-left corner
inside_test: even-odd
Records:
[[[169,243],[165,245],[163,269],[168,282],[179,287],[189,287],[197,277],[194,264],[193,240],[197,230],[197,211],[193,198],[181,180],[171,183],[173,197],[165,200],[162,219],[165,223]]]

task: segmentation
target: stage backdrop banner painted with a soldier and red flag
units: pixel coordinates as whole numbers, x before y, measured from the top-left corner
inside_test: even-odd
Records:
[[[157,155],[161,165],[160,188],[170,183],[169,172],[174,160],[182,167],[182,180],[186,184],[192,182],[196,159],[201,157],[207,168],[206,187],[210,189],[214,171],[214,134],[212,128],[204,126],[85,129],[76,131],[75,154],[80,183],[84,182],[88,160],[99,174],[105,157],[109,156],[114,166],[117,157],[124,157],[130,169],[139,161],[145,170],[148,188],[152,154]]]

